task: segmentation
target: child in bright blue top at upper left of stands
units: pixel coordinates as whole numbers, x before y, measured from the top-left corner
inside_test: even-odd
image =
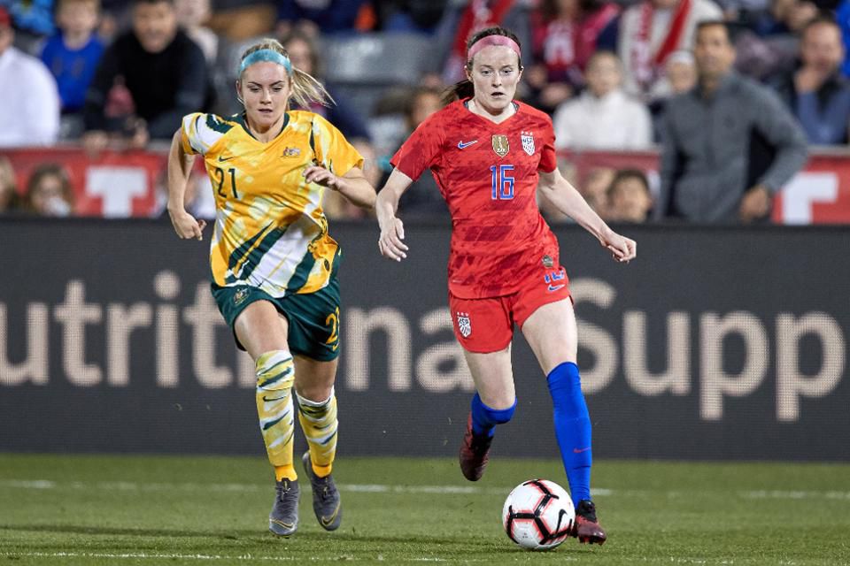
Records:
[[[81,115],[86,90],[95,78],[104,43],[95,34],[99,0],[58,0],[58,34],[42,49],[42,61],[56,78],[62,114]],[[81,124],[73,134],[81,134]]]

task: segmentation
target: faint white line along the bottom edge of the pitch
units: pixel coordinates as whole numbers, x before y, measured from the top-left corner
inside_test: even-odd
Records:
[[[227,562],[326,562],[322,556],[267,556],[267,555],[188,555],[180,553],[102,553],[102,552],[11,552],[4,553],[7,557],[18,558],[105,558],[109,560],[197,560],[197,561],[227,561]],[[569,560],[576,560],[569,557]],[[382,555],[364,556],[341,555],[336,560],[344,562],[383,561]],[[392,562],[446,562],[445,558],[429,556],[392,556]],[[487,562],[486,559],[466,558],[463,562]]]

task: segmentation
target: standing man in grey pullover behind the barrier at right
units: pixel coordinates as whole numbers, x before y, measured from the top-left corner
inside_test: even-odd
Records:
[[[658,214],[767,218],[773,195],[806,162],[806,136],[773,91],[733,70],[722,21],[699,24],[694,57],[697,88],[670,99],[665,111]]]

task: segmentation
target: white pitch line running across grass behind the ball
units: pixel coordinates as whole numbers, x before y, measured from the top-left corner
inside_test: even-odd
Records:
[[[390,484],[337,484],[340,491],[350,493],[425,493],[435,495],[504,495],[512,487],[480,487],[480,486],[404,486]],[[132,482],[132,481],[98,481],[98,482],[56,482],[50,479],[5,479],[0,480],[0,488],[12,489],[79,489],[100,491],[138,491],[138,492],[168,492],[168,491],[204,491],[204,492],[266,492],[266,484],[204,484],[196,482]],[[657,497],[658,492],[637,489],[606,489],[593,488],[594,497]],[[687,497],[693,492],[669,490],[663,492],[670,499]],[[699,490],[705,493],[705,490]],[[738,497],[745,499],[815,499],[831,501],[850,501],[850,491],[796,491],[796,490],[740,490]]]

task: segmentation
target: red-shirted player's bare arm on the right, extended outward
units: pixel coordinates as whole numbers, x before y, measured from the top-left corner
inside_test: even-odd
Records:
[[[564,179],[557,169],[540,173],[539,190],[558,210],[596,236],[602,247],[608,249],[618,262],[628,262],[638,255],[638,244],[608,227],[605,221],[599,218],[599,214],[584,201],[576,187]]]

